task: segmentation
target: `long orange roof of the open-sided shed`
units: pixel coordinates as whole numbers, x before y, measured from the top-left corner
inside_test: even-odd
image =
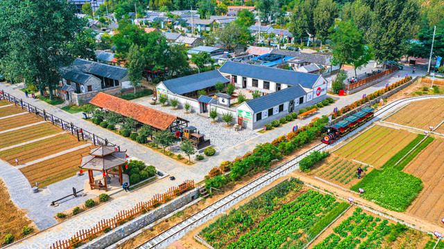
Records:
[[[99,92],[89,103],[108,111],[119,113],[122,116],[133,117],[135,120],[148,124],[155,129],[168,129],[178,119],[177,116],[169,113],[157,111],[142,104],[136,104],[103,92]]]

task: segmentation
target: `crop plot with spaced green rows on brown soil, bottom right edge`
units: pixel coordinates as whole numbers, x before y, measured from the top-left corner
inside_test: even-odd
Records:
[[[409,248],[418,248],[427,241],[422,232],[366,214],[361,208],[356,208],[327,234],[312,249],[407,248],[402,245],[404,236],[409,236],[409,246],[413,246]]]

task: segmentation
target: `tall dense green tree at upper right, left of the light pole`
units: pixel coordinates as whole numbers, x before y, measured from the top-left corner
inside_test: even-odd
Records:
[[[379,62],[398,60],[404,55],[412,28],[418,20],[415,0],[375,0],[375,18],[370,41]]]

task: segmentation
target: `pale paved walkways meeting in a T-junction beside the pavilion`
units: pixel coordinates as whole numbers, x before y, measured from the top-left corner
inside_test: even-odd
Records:
[[[402,73],[402,71],[400,73]],[[379,84],[370,86],[368,89],[364,89],[363,91],[355,93],[354,95],[348,95],[341,98],[334,97],[338,101],[328,107],[320,109],[316,116],[330,114],[332,113],[334,107],[341,108],[347,104],[355,102],[355,100],[361,99],[364,93],[373,93],[378,89],[383,89],[387,82],[389,84],[393,84],[398,80],[400,80],[400,78],[398,78],[398,75],[395,75],[387,80],[384,80],[384,82],[380,82]],[[24,98],[24,93],[22,91],[18,91],[17,86],[0,84],[0,89],[1,88],[4,89],[7,93],[11,93],[18,98]],[[30,239],[26,239],[22,243],[19,243],[19,245],[12,246],[12,248],[34,248],[35,246],[49,247],[51,243],[55,242],[58,239],[67,239],[80,229],[91,228],[96,225],[96,223],[101,219],[109,219],[117,214],[117,212],[119,212],[120,210],[133,208],[139,201],[146,201],[150,199],[154,194],[165,192],[169,189],[169,187],[176,186],[182,183],[182,181],[185,181],[187,179],[193,179],[196,183],[198,181],[202,181],[204,176],[207,174],[207,172],[210,171],[210,169],[212,169],[212,167],[219,165],[224,160],[232,160],[235,158],[235,156],[244,155],[246,151],[253,150],[255,148],[255,145],[257,145],[258,143],[271,142],[271,140],[273,140],[274,138],[289,133],[294,125],[297,124],[301,127],[305,124],[308,124],[311,121],[311,118],[314,118],[311,117],[306,120],[293,120],[292,122],[288,122],[287,124],[282,125],[282,127],[278,129],[273,129],[271,131],[267,131],[266,133],[259,134],[253,140],[248,140],[241,145],[236,145],[230,149],[221,152],[220,154],[217,154],[216,156],[205,158],[205,160],[203,160],[201,163],[187,166],[177,163],[176,160],[172,160],[167,156],[158,154],[157,152],[152,151],[147,147],[138,145],[137,143],[123,138],[115,133],[112,133],[111,131],[102,129],[101,127],[97,127],[90,122],[79,120],[78,118],[76,118],[76,116],[57,109],[56,107],[52,107],[49,104],[46,104],[46,102],[33,99],[27,99],[26,101],[28,100],[29,102],[31,102],[31,104],[35,104],[37,107],[45,109],[47,112],[52,113],[59,118],[63,118],[69,122],[73,122],[79,127],[83,127],[87,131],[96,133],[98,136],[108,138],[108,140],[110,140],[111,142],[120,145],[122,149],[128,149],[128,154],[133,154],[137,158],[146,161],[146,163],[155,165],[155,167],[169,173],[171,176],[176,176],[176,181],[170,181],[169,178],[163,178],[162,180],[151,184],[150,187],[144,187],[135,192],[131,192],[130,194],[126,192],[120,192],[119,194],[114,196],[114,201],[111,201],[110,203],[105,203],[104,205],[101,205],[100,208],[96,208],[94,210],[86,212],[85,214],[81,214],[74,219],[71,219],[65,223],[57,225],[54,228],[37,234]],[[2,174],[0,174],[0,176],[2,178],[5,178]],[[71,178],[67,180],[71,180]],[[81,184],[83,184],[83,181],[81,181]],[[51,185],[50,187],[52,186],[53,185]]]

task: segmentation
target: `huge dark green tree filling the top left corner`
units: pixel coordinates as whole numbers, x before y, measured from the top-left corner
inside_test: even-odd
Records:
[[[85,35],[87,21],[76,17],[66,0],[2,1],[0,19],[3,75],[14,81],[35,82],[40,93],[49,89],[51,99],[59,86],[60,68],[78,56],[94,53],[94,47],[76,46]]]

